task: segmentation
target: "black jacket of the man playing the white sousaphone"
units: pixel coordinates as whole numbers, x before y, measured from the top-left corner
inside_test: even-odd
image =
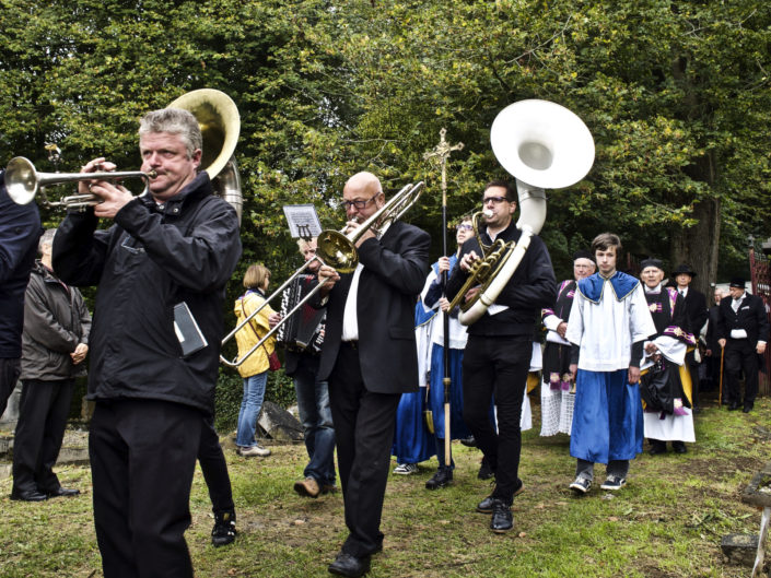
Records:
[[[492,240],[487,234],[480,234],[482,243],[490,245]],[[518,241],[522,231],[516,228],[514,221],[501,233],[497,239],[506,243]],[[453,268],[447,281],[447,298],[453,299],[460,291],[468,278],[468,273],[460,269],[463,256],[476,251],[482,256],[479,243],[476,238],[468,239],[463,244],[463,255],[457,264]],[[534,235],[530,238],[530,246],[522,258],[519,266],[504,286],[501,294],[495,299],[495,305],[505,305],[509,308],[495,315],[486,311],[484,315],[470,325],[469,335],[530,335],[533,327],[538,321],[540,310],[545,307],[553,307],[557,299],[557,281],[554,270],[551,267],[551,258],[546,245],[540,237]]]

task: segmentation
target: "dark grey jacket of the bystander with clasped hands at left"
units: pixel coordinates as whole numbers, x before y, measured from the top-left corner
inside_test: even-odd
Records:
[[[55,381],[85,375],[85,362],[74,365],[70,353],[89,344],[90,331],[91,314],[80,291],[36,262],[24,299],[22,379]]]

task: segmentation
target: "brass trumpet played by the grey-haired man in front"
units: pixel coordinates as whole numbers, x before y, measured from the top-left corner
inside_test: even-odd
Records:
[[[155,178],[154,170],[124,170],[113,173],[38,173],[35,165],[23,156],[11,158],[5,167],[5,189],[11,200],[17,204],[32,202],[43,187],[61,185],[63,182],[78,182],[81,180],[115,180],[122,178],[144,179],[144,190],[150,186],[150,179]],[[43,193],[43,202],[48,207],[66,207],[84,209],[102,202],[96,194],[71,194],[62,197],[60,201],[49,201]]]

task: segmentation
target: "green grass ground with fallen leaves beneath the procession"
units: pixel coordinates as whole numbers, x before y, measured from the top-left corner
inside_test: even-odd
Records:
[[[771,399],[749,415],[708,408],[697,420],[697,444],[685,456],[640,456],[629,484],[617,495],[595,486],[585,497],[568,489],[574,460],[569,438],[523,434],[514,531],[489,531],[489,516],[474,508],[489,494],[477,480],[480,455],[453,446],[452,486],[429,492],[423,484],[435,461],[416,475],[392,475],[382,530],[385,550],[373,558],[381,577],[582,577],[738,578],[749,568],[725,565],[721,539],[757,533],[760,512],[740,502],[741,489],[769,460]],[[230,444],[230,443],[229,443]],[[327,576],[327,565],[346,538],[340,494],[301,498],[292,484],[306,461],[302,445],[270,446],[273,455],[246,460],[225,455],[233,480],[238,536],[214,548],[212,518],[199,470],[194,480],[192,526],[187,541],[197,576]],[[11,502],[11,481],[0,481],[0,576],[101,576],[91,514],[87,468],[59,470],[75,498],[43,504]],[[601,479],[598,465],[596,477]]]

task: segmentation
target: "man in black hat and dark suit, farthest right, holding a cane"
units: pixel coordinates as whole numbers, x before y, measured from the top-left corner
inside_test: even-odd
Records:
[[[741,399],[739,373],[745,374],[744,412],[749,413],[758,394],[758,355],[766,352],[769,320],[763,300],[745,291],[744,279],[732,279],[731,295],[720,303],[717,342],[725,350],[728,410],[738,410]]]

